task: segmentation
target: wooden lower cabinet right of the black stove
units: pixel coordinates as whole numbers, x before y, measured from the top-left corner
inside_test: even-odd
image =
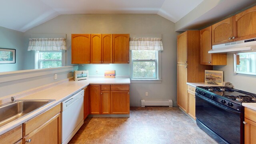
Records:
[[[256,144],[256,111],[244,108],[244,144]]]

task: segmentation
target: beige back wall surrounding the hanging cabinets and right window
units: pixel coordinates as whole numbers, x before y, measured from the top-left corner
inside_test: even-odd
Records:
[[[164,46],[162,52],[162,83],[132,83],[130,85],[130,105],[140,106],[141,99],[172,99],[174,105],[176,105],[176,36],[178,33],[174,30],[173,22],[156,14],[60,15],[26,31],[24,33],[25,45],[27,46],[31,34],[63,33],[67,34],[67,65],[71,65],[71,34],[162,34]],[[29,52],[26,57],[28,58],[27,63],[33,63],[33,56]],[[84,67],[86,68],[86,65]],[[130,71],[128,64],[124,64],[122,67]],[[89,75],[90,73],[92,74],[92,72],[89,72]],[[149,96],[145,96],[145,92],[148,92]]]

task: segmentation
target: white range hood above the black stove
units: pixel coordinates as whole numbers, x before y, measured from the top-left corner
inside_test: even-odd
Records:
[[[208,53],[236,53],[252,51],[256,51],[256,38],[229,42],[225,44],[217,44],[212,46],[212,50],[210,50]]]

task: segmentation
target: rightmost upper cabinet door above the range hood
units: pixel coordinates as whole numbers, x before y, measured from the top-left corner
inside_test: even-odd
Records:
[[[235,41],[256,37],[256,6],[233,16]]]

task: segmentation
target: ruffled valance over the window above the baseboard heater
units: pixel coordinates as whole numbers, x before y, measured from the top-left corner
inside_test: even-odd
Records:
[[[162,38],[130,38],[130,50],[164,50]]]

